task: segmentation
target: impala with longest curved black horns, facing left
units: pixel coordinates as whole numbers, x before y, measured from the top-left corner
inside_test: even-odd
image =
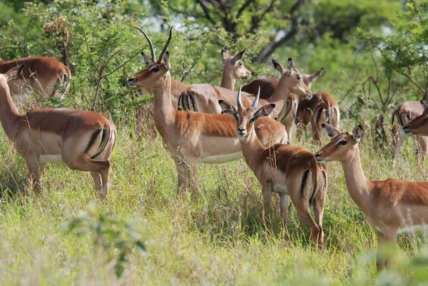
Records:
[[[208,114],[178,111],[171,104],[170,61],[168,41],[158,60],[128,79],[129,86],[142,87],[154,95],[154,121],[162,136],[163,145],[175,161],[178,172],[178,190],[183,193],[188,185],[195,191],[198,163],[220,164],[242,157],[235,120],[228,114]],[[153,44],[149,41],[151,48]],[[272,118],[260,119],[256,133],[264,145],[287,141],[284,126]]]

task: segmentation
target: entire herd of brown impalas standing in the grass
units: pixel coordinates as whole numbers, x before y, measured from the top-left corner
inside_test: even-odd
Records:
[[[396,245],[398,233],[427,230],[428,183],[372,181],[365,177],[358,148],[362,127],[356,126],[352,133],[340,131],[337,102],[328,93],[310,91],[323,68],[313,74],[300,74],[291,58],[286,68],[272,60],[280,78],[258,78],[240,87],[237,96],[235,81],[251,76],[242,60],[245,51],[235,56],[225,49],[221,51],[221,86],[190,86],[170,76],[168,46],[172,29],[158,58],[150,38],[141,33],[151,54],[142,53],[146,68],[131,76],[128,85],[153,93],[149,114],[175,161],[181,193],[188,187],[195,192],[199,163],[220,164],[243,157],[262,187],[265,215],[270,216],[272,193],[278,193],[280,215],[286,225],[290,196],[298,218],[310,229],[312,242],[322,246],[327,194],[324,163],[335,160],[342,163],[352,200],[377,231],[377,269],[390,264],[392,255],[385,249]],[[41,173],[46,164],[62,163],[71,169],[90,171],[98,197],[105,198],[116,126],[94,112],[34,108],[21,115],[14,105],[13,98],[25,96],[29,88],[40,96],[62,97],[70,78],[70,70],[53,58],[0,61],[1,125],[26,161],[30,187],[36,192],[41,188]],[[56,91],[58,86],[61,93]],[[428,148],[424,137],[428,136],[428,105],[416,101],[403,103],[392,118],[394,159],[404,136],[415,135],[422,164]],[[310,125],[315,142],[322,142],[324,130],[330,143],[315,154],[289,145],[293,124],[297,125],[297,136]],[[310,213],[311,205],[315,217]]]

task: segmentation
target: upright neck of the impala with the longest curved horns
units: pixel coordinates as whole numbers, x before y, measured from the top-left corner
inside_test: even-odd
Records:
[[[169,71],[165,76],[158,79],[156,88],[153,88],[155,111],[154,118],[156,127],[168,124],[173,119],[173,103],[171,102],[171,76]]]

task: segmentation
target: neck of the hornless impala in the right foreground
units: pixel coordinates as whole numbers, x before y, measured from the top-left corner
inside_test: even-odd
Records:
[[[367,180],[361,166],[360,148],[355,145],[354,153],[348,160],[342,162],[345,182],[352,200],[363,210],[367,208],[367,199],[370,195],[369,180]]]

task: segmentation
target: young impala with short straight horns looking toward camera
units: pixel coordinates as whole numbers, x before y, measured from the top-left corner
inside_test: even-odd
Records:
[[[238,91],[238,110],[227,101],[219,101],[224,113],[236,120],[236,132],[243,149],[245,161],[262,185],[265,212],[269,213],[272,192],[280,195],[280,215],[287,225],[288,196],[295,205],[297,215],[309,225],[312,242],[322,245],[322,215],[327,193],[327,169],[317,163],[309,150],[293,145],[277,143],[270,147],[260,144],[255,134],[254,122],[269,116],[275,108],[270,103],[258,108],[260,91],[253,104],[246,108]],[[310,205],[315,210],[315,220],[310,213]]]

